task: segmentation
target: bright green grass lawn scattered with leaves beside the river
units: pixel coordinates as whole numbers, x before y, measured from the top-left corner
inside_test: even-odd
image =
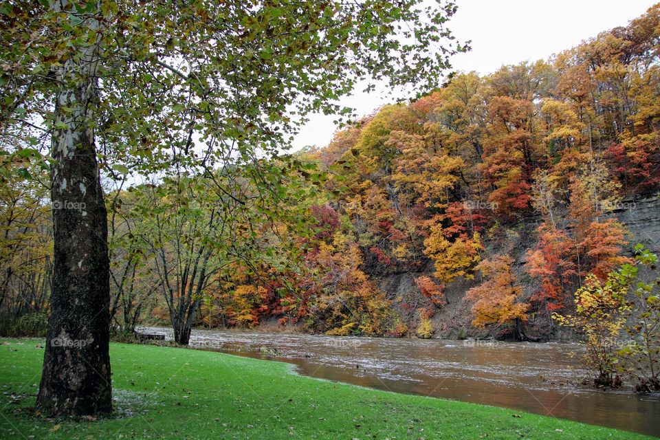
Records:
[[[0,342],[0,439],[649,438],[300,377],[279,362],[129,344],[111,346],[118,415],[48,420],[29,409],[42,360],[43,340]]]

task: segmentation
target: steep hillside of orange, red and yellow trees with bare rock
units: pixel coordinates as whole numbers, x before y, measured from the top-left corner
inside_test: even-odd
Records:
[[[564,338],[660,226],[660,5],[549,61],[455,74],[301,157],[328,173],[294,320],[333,334]],[[307,303],[306,303],[307,304]],[[395,316],[386,313],[394,310]],[[429,325],[429,322],[431,325]]]

